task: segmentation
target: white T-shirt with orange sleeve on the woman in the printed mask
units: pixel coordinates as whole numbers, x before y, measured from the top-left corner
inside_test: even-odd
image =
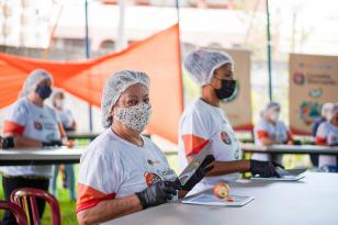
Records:
[[[132,195],[160,180],[177,179],[162,151],[142,138],[139,147],[108,128],[87,147],[80,160],[77,212]]]

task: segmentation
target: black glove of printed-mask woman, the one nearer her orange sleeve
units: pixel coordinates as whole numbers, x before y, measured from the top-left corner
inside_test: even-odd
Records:
[[[172,195],[177,194],[177,190],[181,187],[174,182],[160,181],[151,184],[142,192],[137,192],[136,195],[139,199],[143,209],[160,205],[167,203],[172,199]]]

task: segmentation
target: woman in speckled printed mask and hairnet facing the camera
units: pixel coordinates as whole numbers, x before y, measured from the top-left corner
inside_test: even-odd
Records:
[[[200,167],[181,187],[162,151],[140,135],[149,122],[149,78],[123,70],[111,76],[102,94],[104,133],[82,154],[78,180],[79,224],[98,224],[179,196],[212,169]],[[210,160],[211,162],[212,160]]]

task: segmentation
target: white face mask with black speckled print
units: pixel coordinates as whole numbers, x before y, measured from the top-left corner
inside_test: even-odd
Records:
[[[143,132],[149,123],[151,115],[151,106],[144,102],[129,108],[120,108],[115,114],[115,119],[127,127]]]

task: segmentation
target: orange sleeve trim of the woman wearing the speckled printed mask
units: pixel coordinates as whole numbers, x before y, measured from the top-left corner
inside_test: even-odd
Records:
[[[116,193],[105,194],[89,185],[78,183],[78,198],[76,212],[95,206],[102,201],[115,199]]]

